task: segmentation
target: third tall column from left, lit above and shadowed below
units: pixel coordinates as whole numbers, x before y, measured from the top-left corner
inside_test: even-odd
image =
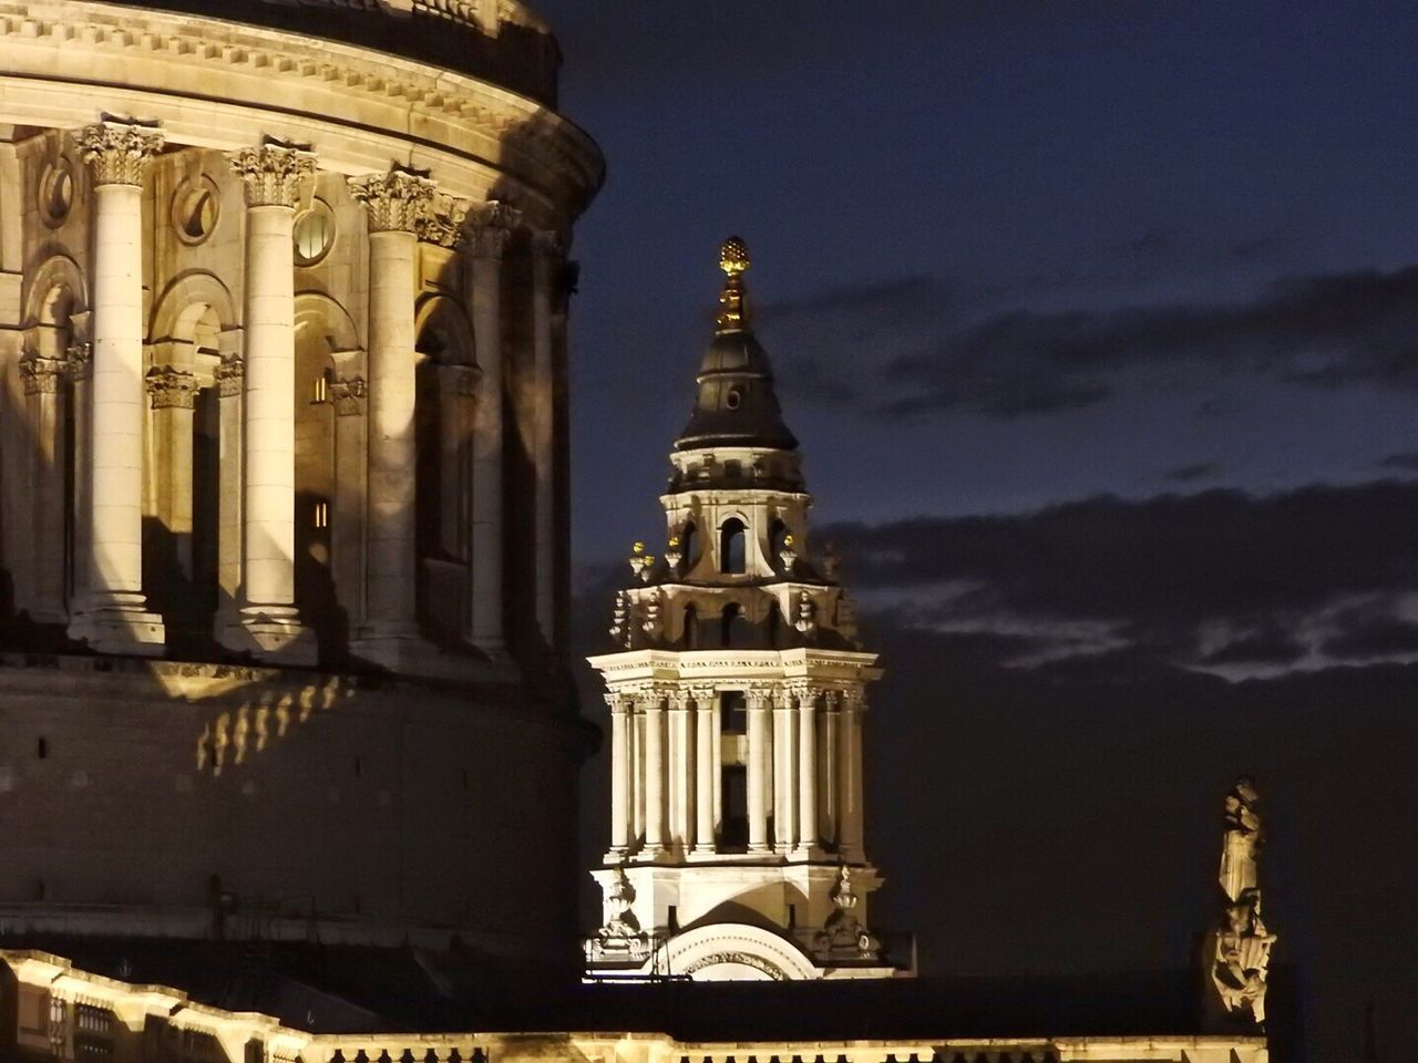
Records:
[[[360,656],[398,670],[417,649],[414,292],[437,186],[394,167],[350,180],[369,217],[369,575]]]

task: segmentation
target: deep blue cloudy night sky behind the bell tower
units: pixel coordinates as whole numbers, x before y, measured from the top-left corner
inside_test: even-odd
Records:
[[[926,972],[1184,964],[1248,771],[1310,1059],[1356,1057],[1371,999],[1407,1050],[1418,7],[537,6],[608,160],[574,248],[583,649],[662,534],[737,232],[888,669],[876,921]]]

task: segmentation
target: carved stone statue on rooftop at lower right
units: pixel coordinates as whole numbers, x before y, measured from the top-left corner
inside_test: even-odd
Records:
[[[1265,1022],[1271,934],[1261,918],[1258,853],[1263,838],[1255,781],[1242,775],[1225,799],[1225,840],[1218,876],[1222,900],[1218,927],[1208,935],[1211,982],[1227,1015]]]

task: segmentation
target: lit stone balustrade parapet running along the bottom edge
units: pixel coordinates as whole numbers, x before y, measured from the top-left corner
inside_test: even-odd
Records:
[[[664,1033],[311,1033],[129,985],[43,952],[0,952],[0,1047],[35,1063],[1268,1063],[1259,1036],[1034,1036],[688,1042]],[[10,999],[6,999],[10,998]]]

